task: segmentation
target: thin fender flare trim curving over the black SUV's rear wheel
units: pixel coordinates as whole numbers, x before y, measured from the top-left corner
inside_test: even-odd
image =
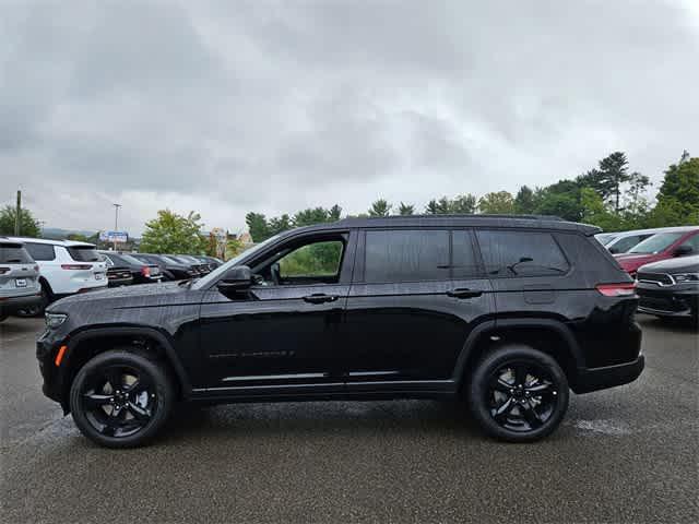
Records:
[[[543,327],[546,330],[555,331],[564,338],[564,341],[566,341],[566,345],[568,346],[567,349],[570,352],[570,355],[576,362],[574,372],[579,373],[579,370],[585,367],[585,359],[582,350],[580,349],[580,345],[578,344],[578,341],[576,341],[576,337],[572,335],[570,327],[568,327],[565,323],[557,320],[541,318],[498,319],[497,321],[487,320],[476,325],[471,331],[471,333],[466,337],[466,342],[464,343],[461,353],[459,354],[459,358],[457,359],[452,379],[457,383],[461,383],[464,376],[466,362],[469,361],[469,357],[473,354],[476,344],[482,336],[486,336],[488,332],[497,334],[498,330],[507,330],[512,327]]]

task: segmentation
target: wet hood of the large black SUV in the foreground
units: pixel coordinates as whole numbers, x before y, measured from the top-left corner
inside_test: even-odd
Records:
[[[181,294],[189,290],[189,286],[183,284],[186,281],[166,282],[158,284],[140,284],[135,286],[122,286],[112,288],[103,288],[98,291],[80,293],[70,297],[61,298],[51,303],[47,311],[60,311],[67,306],[91,301],[133,301],[134,303],[145,305],[145,302],[162,301],[164,296],[169,301],[175,294]]]

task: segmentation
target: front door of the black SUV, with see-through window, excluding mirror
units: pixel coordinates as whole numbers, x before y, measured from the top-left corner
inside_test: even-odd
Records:
[[[296,236],[249,261],[257,283],[201,308],[199,390],[249,395],[340,389],[336,347],[354,249],[351,231]]]

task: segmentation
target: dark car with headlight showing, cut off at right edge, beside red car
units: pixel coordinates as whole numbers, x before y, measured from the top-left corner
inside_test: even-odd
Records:
[[[637,276],[639,311],[699,323],[699,254],[642,265]]]

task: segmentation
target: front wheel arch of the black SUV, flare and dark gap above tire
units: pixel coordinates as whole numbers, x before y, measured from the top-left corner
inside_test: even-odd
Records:
[[[69,338],[68,350],[61,366],[63,370],[60,384],[60,402],[66,413],[69,412],[70,388],[85,362],[95,355],[123,346],[132,346],[134,349],[162,358],[169,374],[176,381],[178,396],[189,396],[191,384],[169,336],[147,326],[94,327],[81,331]]]

